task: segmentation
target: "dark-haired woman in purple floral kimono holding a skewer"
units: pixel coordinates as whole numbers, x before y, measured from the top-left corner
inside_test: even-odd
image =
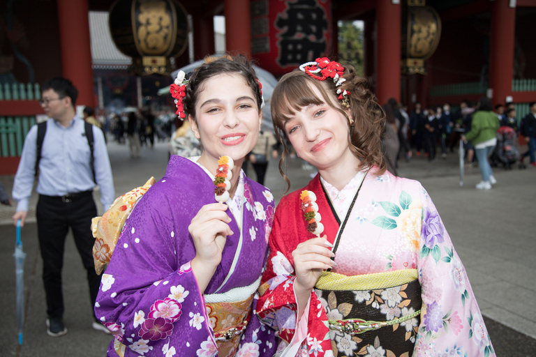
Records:
[[[206,62],[171,88],[202,154],[172,155],[103,274],[95,313],[114,335],[108,356],[274,354],[274,331],[252,314],[274,197],[240,169],[260,131],[260,83],[244,57]],[[234,160],[225,204],[213,183],[222,155]]]

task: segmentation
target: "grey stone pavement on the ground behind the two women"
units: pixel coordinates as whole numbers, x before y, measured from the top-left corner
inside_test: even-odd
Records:
[[[142,157],[131,159],[128,146],[108,144],[116,196],[142,185],[150,176],[161,179],[168,160],[167,144],[142,149]],[[254,175],[253,169],[249,170]],[[294,158],[288,169],[292,190],[303,187],[313,170],[304,171]],[[536,356],[536,239],[534,232],[534,187],[536,169],[495,170],[497,185],[489,191],[475,189],[480,181],[477,168],[468,169],[459,185],[457,158],[427,162],[414,158],[400,162],[399,175],[421,181],[429,192],[454,242],[477,301],[484,314],[498,356]],[[13,176],[0,176],[11,192]],[[266,185],[278,199],[284,181],[272,160]],[[98,191],[94,195],[98,202]],[[31,197],[35,208],[37,195]],[[102,213],[102,207],[98,203]],[[15,317],[15,272],[13,257],[15,228],[10,216],[15,208],[0,206],[0,356],[104,356],[110,335],[91,328],[91,306],[84,271],[73,239],[68,237],[64,259],[64,321],[68,334],[49,337],[45,331],[46,307],[42,263],[38,254],[35,213],[30,211],[22,229],[27,253],[24,281],[26,321],[24,344],[17,346]]]

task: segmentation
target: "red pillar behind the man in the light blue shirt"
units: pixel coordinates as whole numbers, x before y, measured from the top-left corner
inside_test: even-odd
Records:
[[[57,0],[61,66],[78,89],[76,105],[95,106],[88,0]]]

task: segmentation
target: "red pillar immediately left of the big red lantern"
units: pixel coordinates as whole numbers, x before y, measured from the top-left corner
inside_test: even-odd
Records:
[[[228,52],[251,56],[250,0],[225,0],[225,47]]]

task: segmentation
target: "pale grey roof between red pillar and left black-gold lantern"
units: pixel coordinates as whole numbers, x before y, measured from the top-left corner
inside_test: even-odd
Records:
[[[106,11],[89,11],[89,36],[93,68],[119,69],[132,64],[131,57],[120,52],[112,40]]]

